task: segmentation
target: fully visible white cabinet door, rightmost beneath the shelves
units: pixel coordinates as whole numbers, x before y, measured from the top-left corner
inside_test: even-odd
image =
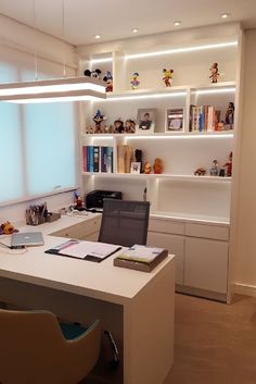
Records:
[[[187,237],[184,248],[184,285],[226,294],[228,243]]]

